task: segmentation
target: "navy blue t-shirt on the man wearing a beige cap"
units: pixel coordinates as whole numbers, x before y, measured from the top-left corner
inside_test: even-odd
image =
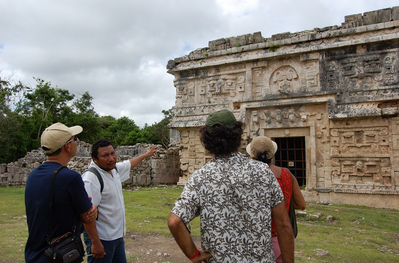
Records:
[[[50,216],[50,186],[53,172],[61,164],[44,162],[34,169],[26,180],[25,208],[29,236],[25,247],[25,262],[48,262],[44,256],[47,244],[47,227]],[[77,225],[76,213],[87,212],[92,203],[84,189],[81,175],[67,168],[55,177],[54,203],[51,210],[50,237],[55,238],[72,230]],[[76,227],[76,231],[80,231]],[[76,262],[80,262],[78,259]]]

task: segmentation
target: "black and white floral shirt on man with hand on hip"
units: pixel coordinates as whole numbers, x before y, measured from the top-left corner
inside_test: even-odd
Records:
[[[213,255],[208,263],[275,262],[271,209],[282,200],[269,167],[234,152],[198,169],[172,213],[189,231],[189,222],[200,215],[201,246]]]

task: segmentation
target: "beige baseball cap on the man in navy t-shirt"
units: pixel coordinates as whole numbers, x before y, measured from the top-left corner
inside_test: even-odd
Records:
[[[47,127],[40,137],[41,149],[46,154],[51,154],[60,149],[73,135],[83,131],[80,126],[67,127],[62,123],[54,123]]]

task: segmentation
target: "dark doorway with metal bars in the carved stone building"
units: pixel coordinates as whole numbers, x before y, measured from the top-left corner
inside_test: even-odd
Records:
[[[305,137],[274,138],[276,165],[288,168],[299,186],[306,185]]]

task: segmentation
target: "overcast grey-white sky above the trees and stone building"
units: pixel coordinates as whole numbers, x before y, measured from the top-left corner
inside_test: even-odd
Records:
[[[0,77],[34,78],[80,96],[100,115],[143,127],[175,105],[170,59],[208,41],[341,25],[398,0],[0,0]]]

